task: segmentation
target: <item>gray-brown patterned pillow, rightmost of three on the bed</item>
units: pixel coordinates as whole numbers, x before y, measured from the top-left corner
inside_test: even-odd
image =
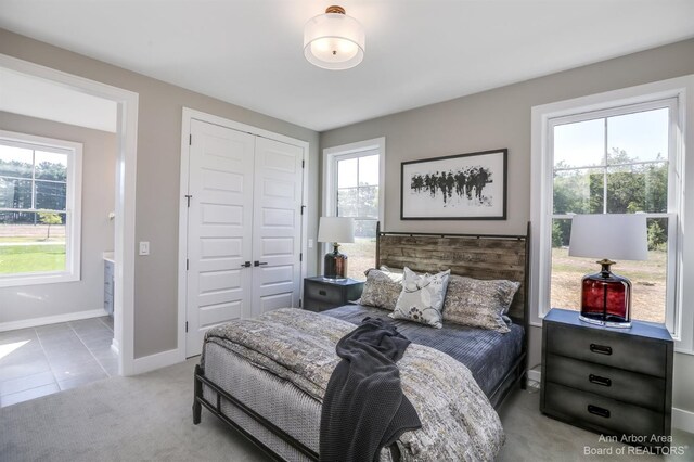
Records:
[[[519,282],[452,275],[444,301],[444,320],[472,328],[510,332],[504,319]]]

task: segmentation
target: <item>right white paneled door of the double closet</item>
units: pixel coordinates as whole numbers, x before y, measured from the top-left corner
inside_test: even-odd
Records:
[[[298,307],[304,149],[256,139],[253,315]]]

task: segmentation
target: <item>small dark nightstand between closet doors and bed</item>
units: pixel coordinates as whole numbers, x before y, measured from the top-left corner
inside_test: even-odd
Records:
[[[304,309],[323,311],[347,305],[361,297],[363,281],[354,279],[326,280],[323,277],[304,280]]]

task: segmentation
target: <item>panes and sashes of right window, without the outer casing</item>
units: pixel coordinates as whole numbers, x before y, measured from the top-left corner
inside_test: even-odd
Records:
[[[618,261],[629,278],[633,319],[666,321],[668,260],[669,127],[676,100],[551,119],[553,154],[550,306],[580,309],[580,280],[597,272],[594,259],[569,257],[574,214],[646,214],[648,259]],[[671,201],[670,201],[671,202]],[[606,255],[605,257],[608,257]]]

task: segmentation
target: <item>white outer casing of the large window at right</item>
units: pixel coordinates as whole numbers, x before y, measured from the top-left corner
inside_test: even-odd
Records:
[[[550,270],[551,270],[551,224],[553,217],[553,156],[552,156],[552,120],[575,115],[577,120],[584,113],[613,111],[620,106],[647,104],[653,101],[673,99],[677,105],[677,116],[671,118],[669,156],[668,218],[671,229],[668,240],[676,242],[670,248],[674,256],[668,255],[668,307],[666,325],[677,341],[676,349],[681,352],[694,354],[693,329],[694,307],[683,300],[694,295],[694,287],[689,281],[694,281],[694,271],[686,271],[694,264],[694,253],[684,246],[684,230],[693,229],[687,223],[694,223],[694,196],[684,195],[685,181],[694,180],[694,163],[685,165],[684,147],[693,145],[692,119],[686,114],[694,114],[692,98],[687,93],[694,92],[694,75],[674,79],[646,84],[638,87],[608,91],[605,93],[577,98],[574,100],[543,104],[532,107],[532,152],[531,152],[531,220],[532,248],[530,277],[530,301],[536,309],[531,312],[531,324],[541,325],[542,318],[550,310]],[[566,120],[566,119],[565,119]],[[677,217],[678,219],[673,219]],[[690,288],[691,287],[691,288]],[[690,294],[691,292],[691,294]]]

